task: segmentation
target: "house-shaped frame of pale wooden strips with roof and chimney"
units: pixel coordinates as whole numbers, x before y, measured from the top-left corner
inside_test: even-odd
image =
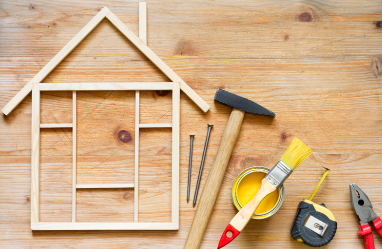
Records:
[[[135,45],[172,82],[128,83],[40,83],[104,18],[107,18],[133,45]],[[133,184],[76,184],[76,91],[133,90],[135,91],[135,156]],[[139,91],[171,90],[172,123],[139,124]],[[172,69],[146,45],[146,3],[139,2],[139,38],[130,31],[107,7],[103,7],[3,108],[8,115],[32,92],[31,144],[31,229],[32,230],[177,230],[179,218],[179,96],[182,90],[202,111],[209,105],[200,98]],[[40,92],[72,91],[72,123],[40,124]],[[138,193],[139,128],[170,127],[172,129],[171,165],[171,222],[138,222],[138,195],[134,195],[134,222],[99,223],[76,222],[76,189],[80,188],[134,188]],[[72,222],[39,222],[39,157],[41,128],[72,128]]]

